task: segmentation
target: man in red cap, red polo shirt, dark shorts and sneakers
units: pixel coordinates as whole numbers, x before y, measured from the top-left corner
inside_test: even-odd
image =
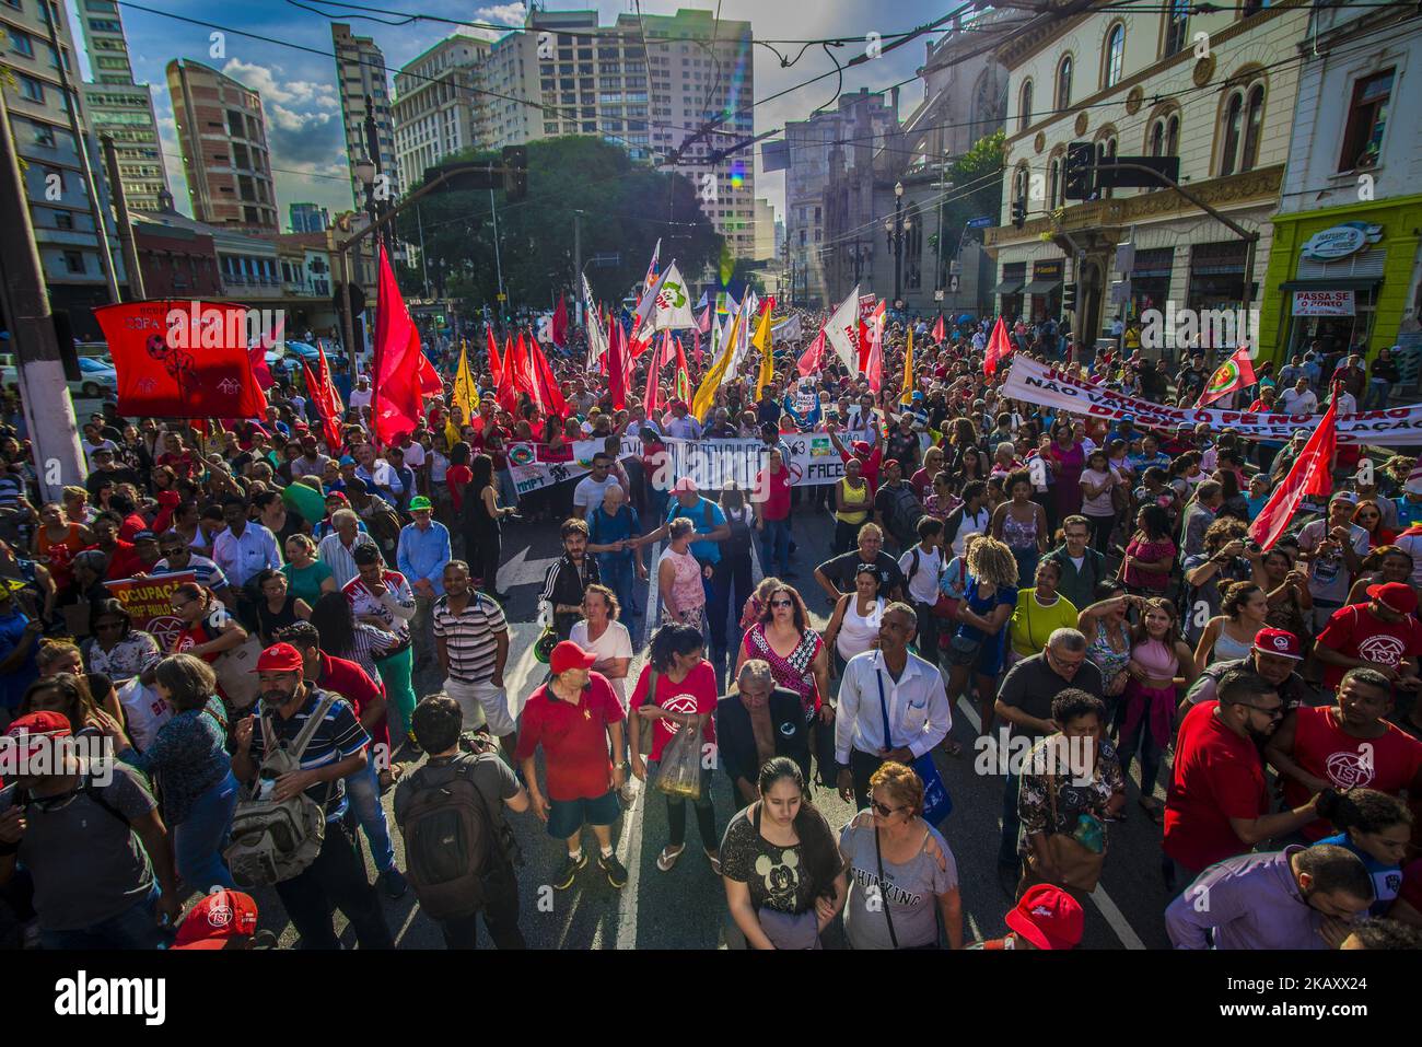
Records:
[[[627,780],[627,765],[613,765],[609,751],[621,758],[623,708],[607,677],[590,671],[597,656],[563,640],[549,657],[552,679],[523,706],[519,745],[515,751],[533,811],[550,836],[567,841],[567,861],[553,879],[556,891],[573,885],[587,865],[583,825],[593,827],[602,855],[597,865],[614,888],[627,885],[627,869],[613,854],[611,824],[621,815],[617,790]],[[609,750],[609,740],[611,748]],[[542,745],[547,797],[538,784],[533,754]]]

